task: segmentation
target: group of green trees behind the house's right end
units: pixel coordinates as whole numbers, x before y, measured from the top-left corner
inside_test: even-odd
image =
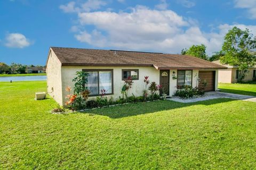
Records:
[[[181,50],[183,55],[191,55],[208,61],[220,60],[222,64],[237,66],[240,71],[238,81],[242,81],[249,67],[256,65],[256,36],[249,29],[230,29],[222,44],[219,52],[209,57],[206,54],[206,46],[193,45],[189,49]]]

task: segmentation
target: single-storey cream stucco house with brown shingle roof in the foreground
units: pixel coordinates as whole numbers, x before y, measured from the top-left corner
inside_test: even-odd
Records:
[[[195,87],[198,76],[199,86],[206,80],[205,90],[214,91],[218,87],[218,69],[227,68],[186,55],[51,47],[46,63],[47,91],[63,105],[68,94],[65,89],[74,87],[72,80],[77,71],[89,73],[86,86],[91,91],[90,99],[99,96],[101,89],[107,90],[108,97],[118,99],[123,80],[128,77],[134,80],[130,95],[135,96],[142,96],[145,76],[150,82],[161,84],[170,96],[177,87]]]

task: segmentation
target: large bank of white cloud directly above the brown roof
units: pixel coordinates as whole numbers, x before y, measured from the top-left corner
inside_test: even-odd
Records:
[[[205,44],[211,55],[221,49],[223,37],[234,26],[249,28],[256,35],[256,25],[243,24],[222,24],[204,32],[195,19],[146,6],[133,7],[129,12],[78,12],[77,16],[79,24],[71,28],[75,38],[94,47],[180,53],[182,48]],[[87,30],[88,25],[94,29]]]

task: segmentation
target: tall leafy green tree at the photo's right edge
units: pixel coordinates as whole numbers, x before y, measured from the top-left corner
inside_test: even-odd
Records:
[[[224,38],[222,50],[225,55],[220,57],[222,64],[238,66],[240,75],[238,82],[243,81],[249,67],[256,64],[256,37],[249,29],[241,30],[237,27],[228,31]]]

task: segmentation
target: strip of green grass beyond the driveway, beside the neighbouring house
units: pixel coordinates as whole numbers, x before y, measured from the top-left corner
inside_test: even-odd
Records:
[[[218,88],[222,92],[230,92],[233,94],[256,96],[256,81],[249,83],[219,83]]]

